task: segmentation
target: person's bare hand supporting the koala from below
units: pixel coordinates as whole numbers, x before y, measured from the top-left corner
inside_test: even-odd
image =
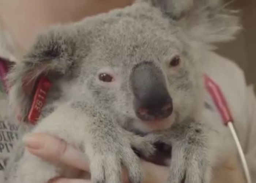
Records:
[[[24,139],[27,150],[42,159],[53,163],[66,164],[68,166],[90,172],[89,160],[84,153],[65,143],[56,137],[44,133],[33,134]],[[165,182],[168,167],[157,166],[155,164],[141,160],[144,174],[144,183]],[[123,182],[128,182],[127,172],[123,170]],[[85,179],[55,178],[49,183],[91,183]]]

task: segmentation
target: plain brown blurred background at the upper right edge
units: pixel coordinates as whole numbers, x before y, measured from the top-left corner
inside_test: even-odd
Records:
[[[243,30],[238,39],[221,44],[217,52],[244,70],[247,83],[254,84],[256,92],[256,0],[233,0],[230,7],[241,9]]]

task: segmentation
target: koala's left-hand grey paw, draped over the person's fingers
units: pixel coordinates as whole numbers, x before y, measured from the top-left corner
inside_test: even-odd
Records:
[[[129,132],[122,132],[120,136],[114,135],[114,138],[105,136],[104,139],[99,138],[98,140],[94,141],[89,151],[86,151],[90,157],[93,183],[121,183],[122,166],[128,172],[129,182],[142,182],[140,160],[132,148],[152,153],[154,151],[153,145],[144,140],[143,137],[135,136]]]

